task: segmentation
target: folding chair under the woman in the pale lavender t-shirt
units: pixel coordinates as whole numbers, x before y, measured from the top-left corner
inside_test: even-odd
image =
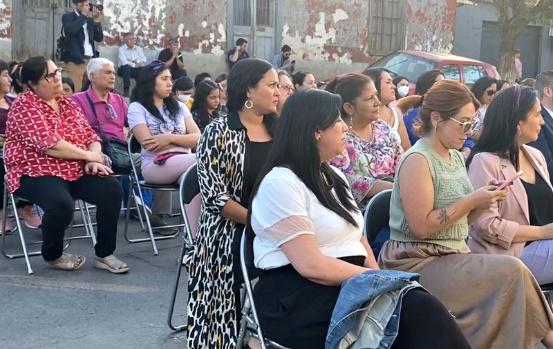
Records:
[[[134,151],[135,148],[137,148],[136,147],[137,144],[138,142],[135,140],[133,134],[131,134],[131,137],[129,138],[129,146],[127,148],[127,151],[129,152],[129,157],[131,157],[131,159],[133,157],[133,152],[135,152]],[[140,145],[138,145],[138,147],[140,149]],[[158,191],[164,191],[164,192],[178,192],[179,190],[178,184],[168,184],[168,185],[159,186],[157,184],[147,183],[146,181],[140,181],[140,179],[138,178],[138,172],[136,171],[136,166],[134,161],[131,161],[131,166],[133,170],[131,171],[131,177],[130,177],[131,183],[129,184],[129,196],[132,195],[135,199],[135,202],[138,201],[136,198],[136,194],[134,192],[134,187],[136,186],[136,188],[138,189],[138,196],[140,197],[140,202],[142,202],[142,205],[143,205],[142,207],[145,207],[144,206],[145,201],[144,201],[144,195],[142,195],[142,189],[158,190]],[[156,256],[158,255],[158,246],[156,245],[156,241],[173,239],[174,237],[180,234],[180,230],[178,230],[174,235],[168,235],[166,237],[153,237],[153,228],[175,228],[175,227],[182,228],[183,226],[185,226],[184,224],[176,224],[174,226],[152,227],[150,223],[150,217],[148,216],[147,212],[144,212],[144,219],[146,220],[145,228],[147,228],[150,237],[140,238],[140,239],[129,239],[128,234],[129,234],[130,211],[131,210],[126,210],[125,212],[125,228],[123,233],[124,239],[129,243],[150,241],[151,247],[153,248],[153,254]],[[181,221],[182,221],[182,218],[181,218]]]

